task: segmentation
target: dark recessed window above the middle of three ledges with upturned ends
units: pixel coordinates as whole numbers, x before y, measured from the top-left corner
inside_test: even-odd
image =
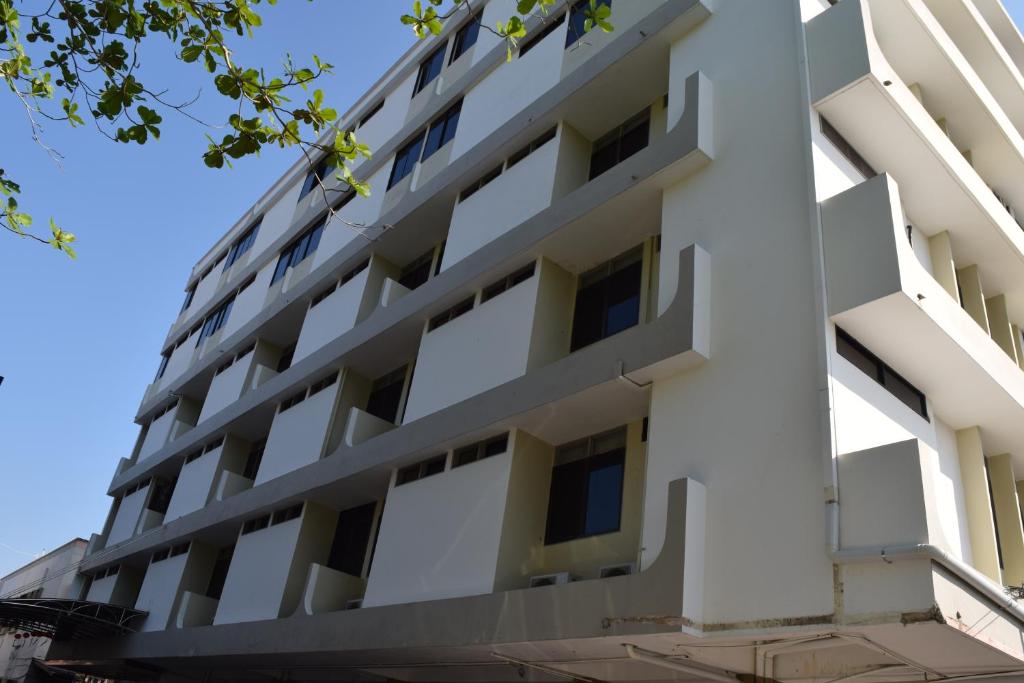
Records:
[[[570,351],[640,322],[642,270],[643,252],[637,247],[580,276]]]

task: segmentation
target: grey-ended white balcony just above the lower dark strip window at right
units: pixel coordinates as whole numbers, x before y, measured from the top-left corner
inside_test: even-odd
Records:
[[[980,426],[986,451],[1013,453],[1024,439],[1024,373],[918,260],[893,179],[822,202],[821,220],[831,319],[953,429]]]

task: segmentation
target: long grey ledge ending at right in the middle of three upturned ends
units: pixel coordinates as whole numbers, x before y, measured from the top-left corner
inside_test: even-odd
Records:
[[[373,500],[386,489],[392,468],[486,430],[520,427],[542,438],[575,437],[643,417],[648,392],[638,385],[693,368],[711,354],[710,258],[690,245],[678,259],[676,296],[653,322],[94,553],[83,560],[82,571],[144,563],[154,550],[183,540],[222,545],[245,519],[292,502],[341,509]]]

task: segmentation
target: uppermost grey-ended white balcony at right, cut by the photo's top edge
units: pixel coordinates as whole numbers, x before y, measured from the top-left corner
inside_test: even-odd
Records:
[[[1007,294],[1013,314],[1024,319],[1024,231],[890,65],[866,0],[830,7],[807,23],[806,34],[815,110],[876,170],[899,181],[914,226],[929,237],[948,230],[957,258],[984,264],[986,290]],[[932,42],[920,35],[916,40]],[[948,80],[969,93],[961,99],[985,109],[958,73]],[[987,123],[995,125],[990,118]],[[1024,185],[1015,191],[1024,197]]]

